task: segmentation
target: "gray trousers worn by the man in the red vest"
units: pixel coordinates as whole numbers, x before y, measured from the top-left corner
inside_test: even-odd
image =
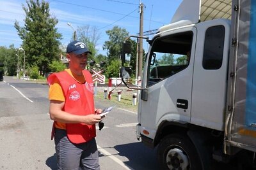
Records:
[[[100,170],[95,138],[86,143],[74,144],[68,140],[65,130],[56,129],[54,142],[59,170]]]

